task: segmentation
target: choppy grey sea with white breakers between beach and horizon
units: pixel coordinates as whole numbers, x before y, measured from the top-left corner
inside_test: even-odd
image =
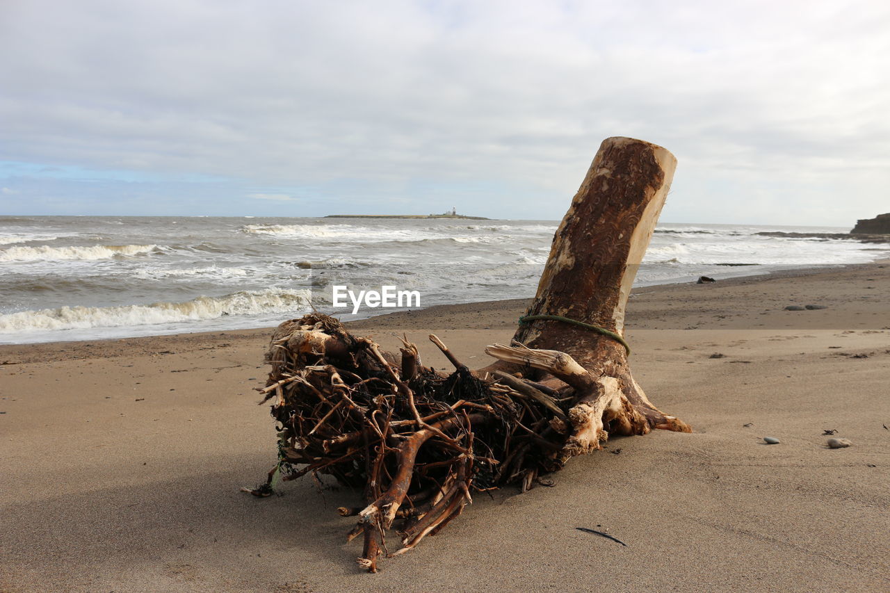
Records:
[[[557,221],[0,216],[0,343],[262,328],[333,287],[417,291],[420,307],[534,296]],[[659,224],[636,286],[890,256],[848,227]],[[348,299],[347,299],[348,300]],[[413,303],[413,308],[417,304]]]

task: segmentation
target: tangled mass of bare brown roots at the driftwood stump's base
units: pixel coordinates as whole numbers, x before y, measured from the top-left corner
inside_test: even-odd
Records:
[[[357,518],[349,539],[362,536],[358,563],[369,572],[381,556],[440,532],[473,491],[506,483],[527,491],[571,457],[600,449],[610,433],[680,424],[668,416],[653,424],[628,399],[627,378],[595,376],[567,353],[490,345],[487,353],[535,370],[540,381],[498,370],[481,379],[441,339],[430,340],[453,373],[424,367],[407,338],[400,366],[320,313],[283,323],[267,355],[272,370],[259,391],[279,423],[279,464],[250,491],[268,495],[279,479],[310,473],[363,485],[365,506],[338,513]],[[401,548],[388,552],[391,529]]]

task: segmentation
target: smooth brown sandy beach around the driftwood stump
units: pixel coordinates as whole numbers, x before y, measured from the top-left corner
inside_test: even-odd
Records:
[[[479,494],[376,575],[335,512],[358,493],[311,479],[239,492],[275,462],[251,390],[268,329],[0,346],[0,590],[890,590],[888,272],[638,290],[635,378],[695,432],[616,438],[554,488]],[[807,304],[828,308],[783,310]],[[482,366],[524,305],[352,327],[391,349],[406,331],[444,367],[434,331]],[[829,450],[823,429],[854,445]]]

